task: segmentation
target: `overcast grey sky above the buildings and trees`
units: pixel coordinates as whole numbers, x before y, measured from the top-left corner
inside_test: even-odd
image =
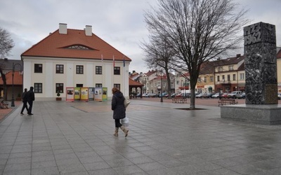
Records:
[[[0,27],[11,34],[15,43],[8,59],[20,59],[22,52],[57,30],[59,23],[66,23],[69,29],[91,25],[93,34],[132,59],[129,71],[146,72],[149,69],[139,47],[148,36],[143,14],[156,1],[0,0]],[[235,1],[249,9],[249,25],[256,22],[275,25],[277,46],[281,46],[281,0]]]

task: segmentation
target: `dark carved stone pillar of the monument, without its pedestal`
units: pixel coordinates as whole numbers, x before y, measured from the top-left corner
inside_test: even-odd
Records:
[[[246,104],[278,104],[275,26],[244,27]]]

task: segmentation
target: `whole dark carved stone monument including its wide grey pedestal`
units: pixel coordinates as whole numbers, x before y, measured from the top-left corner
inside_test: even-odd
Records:
[[[245,104],[221,106],[221,118],[280,125],[275,26],[259,22],[244,27],[244,55]]]

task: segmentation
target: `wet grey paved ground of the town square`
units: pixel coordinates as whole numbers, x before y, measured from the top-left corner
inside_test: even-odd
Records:
[[[0,174],[280,174],[281,127],[220,118],[220,107],[131,100],[129,135],[108,102],[34,102],[0,123]]]

